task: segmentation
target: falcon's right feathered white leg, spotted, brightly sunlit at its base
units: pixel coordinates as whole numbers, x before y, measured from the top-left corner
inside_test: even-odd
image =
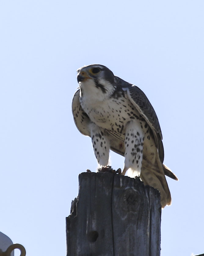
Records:
[[[142,166],[144,132],[135,120],[126,125],[125,137],[125,165],[124,171],[128,170],[129,177],[139,176]]]

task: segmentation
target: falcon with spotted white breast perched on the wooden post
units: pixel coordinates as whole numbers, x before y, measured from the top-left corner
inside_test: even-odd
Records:
[[[161,205],[171,204],[165,175],[178,180],[163,164],[164,148],[157,115],[146,95],[115,76],[107,67],[88,65],[77,70],[79,90],[72,101],[78,130],[91,137],[100,166],[107,166],[109,150],[125,157],[122,175],[139,176],[157,188]]]

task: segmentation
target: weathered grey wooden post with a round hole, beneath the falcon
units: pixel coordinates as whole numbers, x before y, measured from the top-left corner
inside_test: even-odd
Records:
[[[66,218],[67,256],[159,256],[158,190],[112,173],[79,174]]]

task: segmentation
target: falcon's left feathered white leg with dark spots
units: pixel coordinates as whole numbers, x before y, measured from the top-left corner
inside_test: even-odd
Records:
[[[96,124],[90,124],[91,140],[94,154],[100,166],[107,166],[110,144],[108,137],[105,135],[104,129],[101,129]]]

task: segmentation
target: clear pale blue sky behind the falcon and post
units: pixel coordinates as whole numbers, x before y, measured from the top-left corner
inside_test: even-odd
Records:
[[[76,69],[94,63],[139,86],[158,115],[179,178],[161,255],[204,253],[203,13],[202,0],[0,2],[0,231],[27,255],[66,255],[78,174],[97,168],[71,114]]]

